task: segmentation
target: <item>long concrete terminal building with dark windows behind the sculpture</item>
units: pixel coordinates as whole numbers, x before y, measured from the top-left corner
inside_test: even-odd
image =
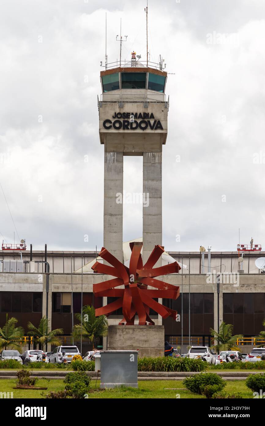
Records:
[[[265,252],[245,253],[240,273],[238,252],[211,252],[212,273],[207,272],[207,252],[205,265],[202,265],[199,252],[168,254],[177,262],[183,261],[188,268],[163,277],[180,287],[177,300],[162,301],[177,310],[180,320],[174,321],[170,317],[164,320],[156,312],[150,312],[150,317],[155,324],[164,325],[165,336],[174,345],[182,343],[183,350],[188,343],[210,345],[209,329],[217,330],[222,320],[233,324],[234,334],[243,334],[245,342],[264,329],[265,274],[256,268],[255,260],[265,256]],[[113,301],[93,295],[93,284],[104,280],[102,274],[75,272],[80,271],[82,263],[85,271],[85,265],[94,262],[96,253],[93,251],[48,251],[45,258],[44,251],[30,254],[26,250],[21,263],[16,250],[2,250],[0,258],[1,326],[8,313],[17,318],[18,325],[26,333],[28,321],[38,325],[41,317],[46,315],[52,328],[63,328],[64,341],[69,344],[72,311],[73,314],[80,312],[82,293],[83,305],[99,308]],[[47,263],[44,263],[45,259]],[[119,309],[108,317],[108,322],[118,324],[122,318],[122,310]],[[74,323],[77,323],[75,316]],[[83,347],[90,348],[89,343]]]

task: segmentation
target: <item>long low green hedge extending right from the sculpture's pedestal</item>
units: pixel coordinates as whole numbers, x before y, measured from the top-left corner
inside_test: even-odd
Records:
[[[201,359],[194,358],[139,358],[138,371],[205,371],[208,368],[207,363]]]

